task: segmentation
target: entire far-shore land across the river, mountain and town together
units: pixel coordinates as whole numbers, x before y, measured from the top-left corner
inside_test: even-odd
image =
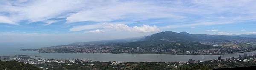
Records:
[[[230,54],[256,50],[256,38],[165,31],[138,39],[81,42],[22,50],[41,53]]]

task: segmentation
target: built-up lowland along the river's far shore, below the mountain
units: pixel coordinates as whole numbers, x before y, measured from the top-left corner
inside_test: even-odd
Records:
[[[203,42],[203,44],[214,46],[212,48],[178,48],[181,43],[169,43],[173,47],[165,48],[165,44],[157,47],[123,47],[120,44],[76,44],[60,45],[40,49],[21,49],[23,51],[38,51],[41,53],[151,53],[151,54],[230,54],[256,50],[256,41],[233,40],[232,42]],[[189,46],[189,45],[187,45]],[[193,46],[192,46],[193,47]]]

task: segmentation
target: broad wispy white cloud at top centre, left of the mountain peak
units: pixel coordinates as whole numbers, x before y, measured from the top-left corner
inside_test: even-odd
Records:
[[[171,8],[159,6],[151,1],[108,1],[95,8],[85,9],[71,14],[67,22],[96,21],[106,22],[120,19],[143,20],[149,18],[183,18],[172,14]],[[168,11],[168,12],[167,12]]]

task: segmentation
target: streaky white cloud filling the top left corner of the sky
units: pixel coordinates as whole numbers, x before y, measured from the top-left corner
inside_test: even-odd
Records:
[[[12,22],[22,20],[29,22],[46,21],[66,15],[69,12],[76,12],[86,4],[81,0],[4,0],[0,3],[0,12],[9,14],[9,20]]]

